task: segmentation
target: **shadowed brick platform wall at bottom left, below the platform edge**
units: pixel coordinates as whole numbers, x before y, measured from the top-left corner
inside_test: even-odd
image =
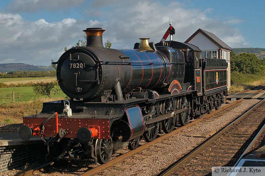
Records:
[[[45,160],[47,146],[40,141],[31,145],[0,146],[0,174]]]

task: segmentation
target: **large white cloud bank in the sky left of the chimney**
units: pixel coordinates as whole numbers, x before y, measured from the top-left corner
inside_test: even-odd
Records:
[[[93,21],[92,21],[93,22]],[[91,22],[91,23],[92,23]],[[69,43],[84,36],[84,21],[67,18],[48,23],[26,21],[20,15],[0,11],[0,63],[50,65],[58,60]]]

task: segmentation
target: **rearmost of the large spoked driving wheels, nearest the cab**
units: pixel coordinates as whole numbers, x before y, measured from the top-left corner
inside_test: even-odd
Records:
[[[178,101],[178,108],[184,109],[183,112],[178,114],[180,125],[187,125],[190,120],[191,108],[190,102],[185,96],[182,96]]]

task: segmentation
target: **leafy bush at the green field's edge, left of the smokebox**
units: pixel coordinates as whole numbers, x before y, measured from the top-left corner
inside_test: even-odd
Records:
[[[52,92],[56,92],[57,89],[57,81],[52,81],[52,82],[37,82],[33,83],[33,91],[36,94],[42,94],[42,95],[47,95],[48,98],[50,98],[50,95]]]

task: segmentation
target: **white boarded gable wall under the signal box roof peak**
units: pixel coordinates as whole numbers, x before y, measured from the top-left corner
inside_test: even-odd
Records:
[[[198,46],[200,50],[218,50],[219,47],[211,40],[205,37],[202,33],[195,35],[188,43]]]

